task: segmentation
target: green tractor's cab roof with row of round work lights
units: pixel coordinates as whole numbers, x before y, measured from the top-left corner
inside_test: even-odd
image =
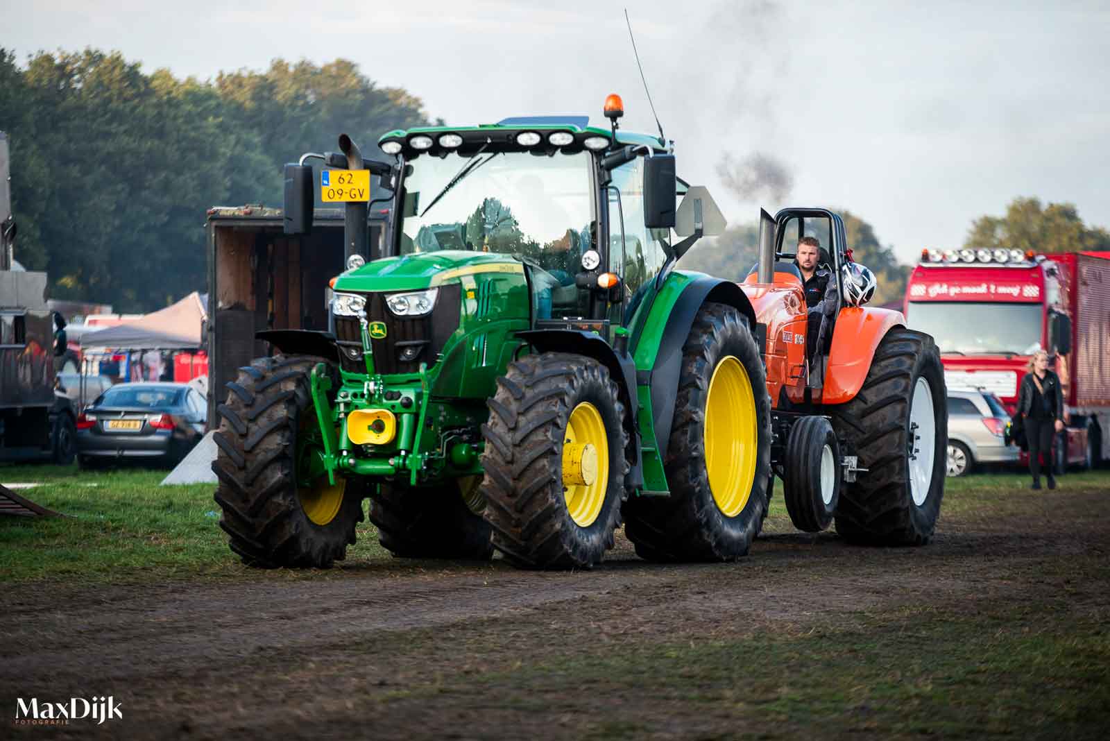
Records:
[[[497,123],[477,126],[417,126],[396,129],[377,140],[386,154],[404,153],[406,159],[421,154],[446,154],[452,151],[472,153],[485,145],[498,152],[581,152],[583,149],[604,151],[614,146],[613,131],[591,126],[585,115],[514,116]],[[649,146],[665,152],[666,142],[658,136],[617,131],[615,145]]]

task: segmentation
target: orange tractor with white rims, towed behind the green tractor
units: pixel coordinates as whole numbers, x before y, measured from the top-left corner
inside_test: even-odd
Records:
[[[807,311],[789,250],[809,235],[829,287],[823,306]],[[948,443],[932,337],[907,329],[900,312],[864,305],[875,278],[852,262],[844,222],[825,209],[761,211],[759,261],[740,287],[765,343],[771,467],[795,527],[817,532],[835,519],[852,541],[928,542]]]

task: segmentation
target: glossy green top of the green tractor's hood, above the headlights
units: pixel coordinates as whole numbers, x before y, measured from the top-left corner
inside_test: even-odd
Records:
[[[523,273],[524,265],[514,257],[490,252],[442,250],[415,252],[400,257],[383,257],[342,273],[335,291],[421,291],[444,283],[458,282],[476,273]]]

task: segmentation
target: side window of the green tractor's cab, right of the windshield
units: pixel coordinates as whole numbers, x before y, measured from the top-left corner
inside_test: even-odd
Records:
[[[636,158],[613,171],[609,185],[609,263],[624,284],[624,324],[632,321],[650,281],[667,255],[662,240],[667,230],[644,226],[644,159]]]

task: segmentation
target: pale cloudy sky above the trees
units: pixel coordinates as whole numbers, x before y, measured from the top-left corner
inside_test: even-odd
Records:
[[[623,126],[654,132],[627,8],[679,175],[707,185],[730,222],[760,206],[848,209],[904,262],[959,245],[1017,196],[1070,202],[1110,227],[1106,1],[165,4],[0,0],[0,47],[21,62],[119,50],[148,72],[202,80],[344,58],[457,124],[604,122],[617,92]]]

